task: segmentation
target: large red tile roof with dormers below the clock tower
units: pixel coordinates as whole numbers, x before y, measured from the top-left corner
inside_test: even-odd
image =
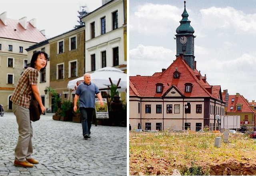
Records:
[[[173,78],[174,72],[180,73],[179,78]],[[201,79],[198,79],[200,76]],[[170,91],[170,87],[174,86],[185,97],[212,97],[222,100],[220,85],[212,86],[206,81],[206,77],[202,77],[195,69],[192,70],[182,59],[182,56],[177,59],[163,72],[154,73],[152,76],[130,76],[130,96],[141,97],[161,97]],[[156,93],[156,83],[164,85],[162,93]],[[185,92],[185,83],[192,83],[192,92]],[[138,91],[139,94],[136,93]]]

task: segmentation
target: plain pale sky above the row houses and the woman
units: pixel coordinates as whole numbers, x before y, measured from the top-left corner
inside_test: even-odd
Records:
[[[36,19],[36,28],[45,30],[49,38],[58,36],[78,25],[78,11],[92,12],[102,6],[102,0],[0,0],[0,14],[7,18],[27,21]]]

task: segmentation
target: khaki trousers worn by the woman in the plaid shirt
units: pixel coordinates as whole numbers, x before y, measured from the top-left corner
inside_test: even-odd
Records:
[[[30,121],[29,109],[12,103],[12,110],[18,123],[19,137],[15,148],[14,156],[17,162],[32,158],[33,128]]]

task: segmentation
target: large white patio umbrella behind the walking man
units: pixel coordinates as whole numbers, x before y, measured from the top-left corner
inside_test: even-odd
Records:
[[[112,83],[117,85],[118,80],[120,79],[120,82],[118,86],[120,86],[120,89],[117,89],[119,92],[125,92],[127,88],[127,74],[124,73],[124,71],[120,69],[116,69],[114,67],[104,67],[101,69],[98,69],[94,71],[94,73],[91,73],[91,82],[96,84],[99,89],[105,89],[108,88],[108,86],[111,85],[110,80]],[[72,81],[68,82],[68,88],[75,90],[75,86],[77,86],[80,83],[83,83],[84,77],[80,77],[77,79],[74,79]]]

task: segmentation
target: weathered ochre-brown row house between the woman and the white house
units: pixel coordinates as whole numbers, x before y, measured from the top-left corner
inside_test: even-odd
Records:
[[[84,25],[30,46],[28,56],[44,50],[48,55],[46,71],[40,73],[39,91],[42,102],[49,112],[52,108],[52,97],[48,87],[55,89],[62,101],[74,97],[74,92],[67,88],[68,81],[84,75]],[[29,58],[31,58],[29,57]]]

